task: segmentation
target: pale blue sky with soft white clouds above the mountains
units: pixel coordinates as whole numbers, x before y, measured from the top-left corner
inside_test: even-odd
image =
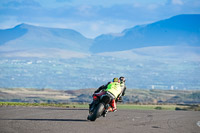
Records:
[[[200,0],[0,0],[0,29],[27,23],[95,38],[179,14],[200,14]]]

